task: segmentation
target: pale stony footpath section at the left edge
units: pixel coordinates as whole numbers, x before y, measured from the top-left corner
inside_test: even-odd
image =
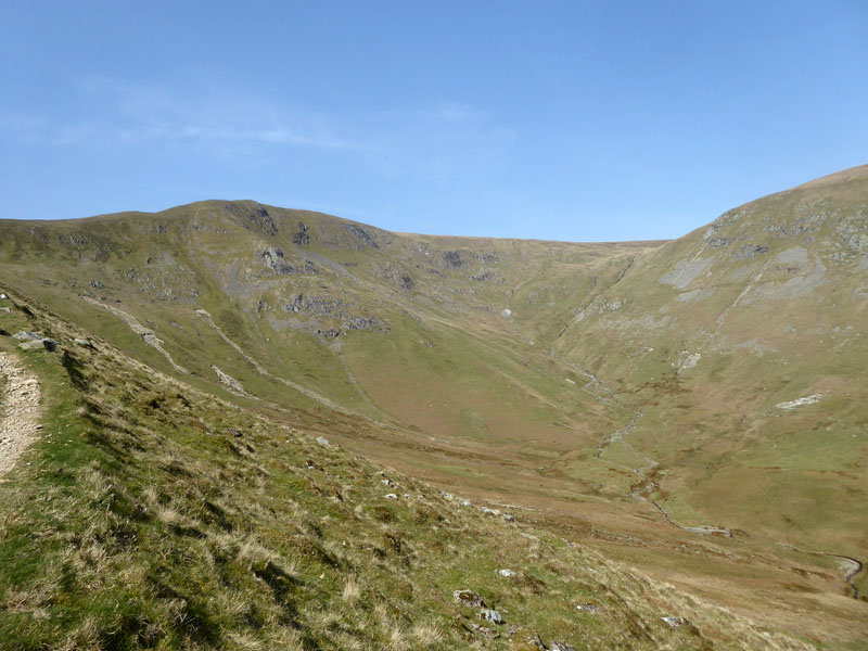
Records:
[[[0,353],[0,475],[4,475],[36,438],[39,382],[8,353]]]

